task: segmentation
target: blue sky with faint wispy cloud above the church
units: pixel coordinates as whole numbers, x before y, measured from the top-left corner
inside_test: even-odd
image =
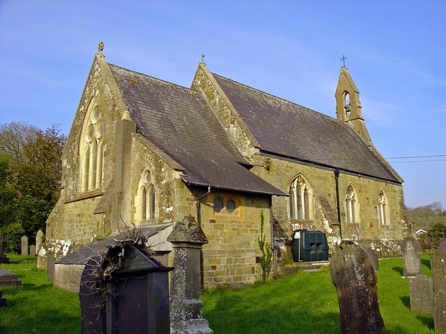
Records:
[[[100,41],[109,63],[186,87],[205,54],[211,72],[332,117],[345,55],[376,148],[420,157],[389,159],[406,205],[446,209],[445,17],[443,0],[0,0],[0,124],[68,134]]]

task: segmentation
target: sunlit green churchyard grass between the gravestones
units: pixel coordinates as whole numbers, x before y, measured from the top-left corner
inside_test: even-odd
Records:
[[[79,333],[79,299],[47,280],[35,257],[8,255],[0,268],[17,273],[23,287],[3,287],[6,308],[0,309],[0,333]],[[429,254],[422,255],[431,277]],[[403,260],[380,260],[378,299],[387,333],[435,333],[432,315],[410,312],[408,280],[401,278]],[[340,333],[339,306],[328,267],[233,291],[210,289],[201,299],[203,317],[216,334]]]

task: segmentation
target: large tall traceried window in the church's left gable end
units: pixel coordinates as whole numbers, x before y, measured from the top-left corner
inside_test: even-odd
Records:
[[[80,149],[82,173],[81,189],[90,191],[102,186],[102,170],[104,159],[104,143],[102,134],[104,125],[102,113],[95,100],[91,100],[86,112],[86,122],[81,136]]]

